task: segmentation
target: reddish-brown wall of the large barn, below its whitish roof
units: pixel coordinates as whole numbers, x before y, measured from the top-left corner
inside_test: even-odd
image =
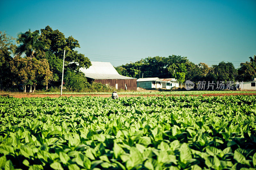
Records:
[[[118,84],[118,89],[125,89],[125,84],[127,85],[127,90],[137,90],[137,79],[96,79],[97,83],[109,84],[109,86],[116,87]]]

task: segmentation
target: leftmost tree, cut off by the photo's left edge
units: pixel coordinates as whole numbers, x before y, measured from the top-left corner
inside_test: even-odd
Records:
[[[0,30],[0,89],[12,86],[12,75],[10,74],[9,63],[12,60],[11,53],[15,49],[13,38],[5,31]],[[6,76],[9,75],[9,76]]]

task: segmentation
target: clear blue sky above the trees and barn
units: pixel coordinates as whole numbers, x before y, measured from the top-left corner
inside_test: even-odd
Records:
[[[114,66],[174,54],[237,68],[256,55],[255,0],[0,1],[9,35],[47,25],[77,39],[91,61]]]

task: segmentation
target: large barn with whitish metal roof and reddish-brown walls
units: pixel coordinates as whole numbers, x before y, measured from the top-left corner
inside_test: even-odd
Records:
[[[120,75],[109,62],[91,61],[89,68],[80,68],[87,80],[113,86],[116,89],[136,90],[136,78]]]

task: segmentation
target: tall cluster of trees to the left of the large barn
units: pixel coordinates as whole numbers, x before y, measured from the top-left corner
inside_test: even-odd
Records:
[[[88,85],[79,68],[89,68],[91,62],[76,48],[80,48],[76,39],[72,36],[66,38],[58,29],[53,30],[49,26],[40,31],[29,29],[18,33],[17,38],[0,31],[0,89],[21,88],[24,92],[33,92],[36,86],[39,89],[47,89],[49,84],[59,86],[64,50],[64,81],[68,82],[65,86],[72,89],[74,83],[79,84],[78,88]]]

